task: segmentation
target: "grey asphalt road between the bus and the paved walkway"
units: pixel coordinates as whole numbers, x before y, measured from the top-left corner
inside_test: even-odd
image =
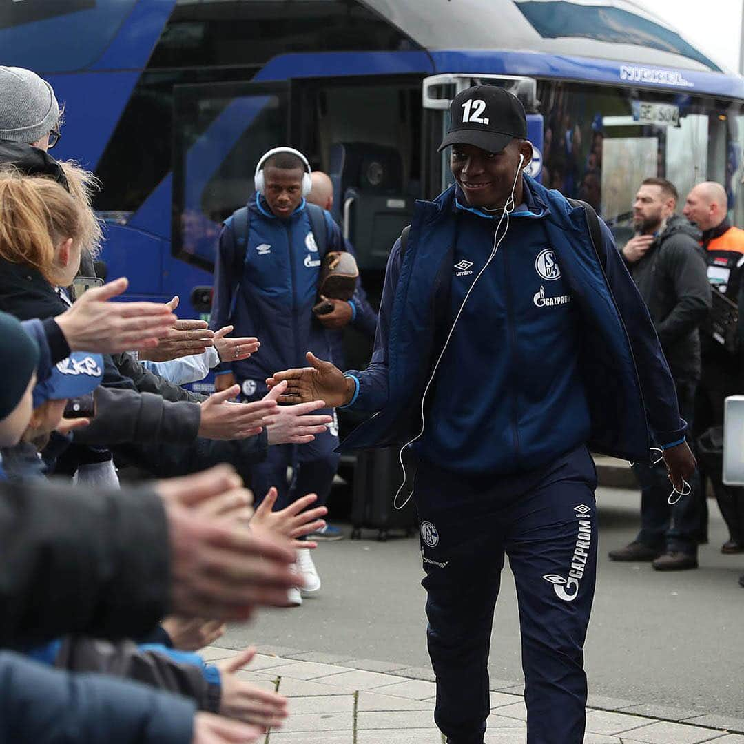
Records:
[[[597,593],[586,643],[589,691],[632,702],[744,718],[744,555],[724,556],[728,538],[711,501],[710,543],[696,571],[661,574],[650,564],[613,563],[607,551],[638,528],[640,496],[597,492]],[[344,525],[341,525],[344,527]],[[347,530],[348,533],[349,530]],[[323,586],[298,609],[266,610],[232,626],[218,644],[251,643],[429,667],[418,539],[323,543],[314,552]],[[491,641],[493,679],[522,682],[519,621],[504,567]]]

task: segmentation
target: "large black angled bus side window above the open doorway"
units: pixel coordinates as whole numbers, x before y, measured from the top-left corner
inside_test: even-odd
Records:
[[[245,82],[280,52],[408,48],[416,47],[356,0],[179,0],[96,166],[96,208],[137,211],[172,169],[174,86]]]

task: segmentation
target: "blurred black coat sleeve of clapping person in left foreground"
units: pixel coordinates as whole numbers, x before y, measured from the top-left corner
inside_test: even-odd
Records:
[[[168,611],[168,545],[152,490],[0,481],[0,646],[149,632]]]

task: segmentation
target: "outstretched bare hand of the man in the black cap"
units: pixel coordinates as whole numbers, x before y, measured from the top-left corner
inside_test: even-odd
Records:
[[[310,403],[324,400],[329,408],[349,403],[354,394],[354,381],[344,377],[339,368],[318,359],[312,352],[308,351],[305,356],[310,367],[275,372],[273,377],[266,380],[269,388],[286,380],[286,391],[279,396],[278,402]]]

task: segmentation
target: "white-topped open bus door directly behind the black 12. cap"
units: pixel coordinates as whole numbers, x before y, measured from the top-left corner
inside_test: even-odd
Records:
[[[505,88],[522,101],[527,112],[527,138],[533,146],[533,160],[525,171],[542,180],[543,119],[539,113],[537,81],[531,77],[513,75],[432,75],[423,80],[423,192],[426,199],[434,199],[438,193],[452,185],[449,171],[449,151],[437,153],[437,147],[449,129],[449,105],[462,91],[478,85],[493,85]]]

